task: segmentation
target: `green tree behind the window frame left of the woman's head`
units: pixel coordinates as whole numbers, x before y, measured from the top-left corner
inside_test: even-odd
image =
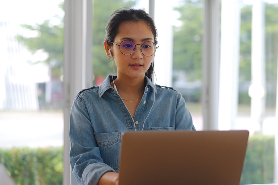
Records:
[[[105,77],[112,72],[111,60],[108,60],[103,47],[105,26],[111,14],[122,7],[131,7],[136,4],[136,0],[95,0],[93,5],[93,74],[95,76]],[[60,5],[63,9],[64,3]],[[37,50],[43,49],[48,53],[49,57],[44,62],[51,65],[52,75],[62,75],[63,65],[63,38],[64,38],[64,18],[58,17],[61,22],[58,25],[51,25],[51,21],[45,20],[42,24],[27,25],[24,27],[30,31],[36,31],[36,37],[25,37],[18,35],[18,40],[26,45],[30,51],[35,53]]]

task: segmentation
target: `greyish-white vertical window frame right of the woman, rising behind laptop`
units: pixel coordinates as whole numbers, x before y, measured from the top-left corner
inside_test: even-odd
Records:
[[[204,2],[203,89],[204,130],[218,129],[220,0]]]

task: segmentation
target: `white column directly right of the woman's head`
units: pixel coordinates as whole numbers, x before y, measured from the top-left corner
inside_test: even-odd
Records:
[[[171,14],[173,7],[171,2],[155,1],[154,20],[158,31],[159,48],[155,53],[154,72],[157,84],[172,86],[173,69],[173,27]],[[155,77],[153,78],[155,82]]]

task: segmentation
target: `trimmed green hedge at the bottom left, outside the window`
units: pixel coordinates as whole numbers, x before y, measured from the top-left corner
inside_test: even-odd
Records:
[[[0,149],[0,162],[16,185],[61,185],[63,148]]]

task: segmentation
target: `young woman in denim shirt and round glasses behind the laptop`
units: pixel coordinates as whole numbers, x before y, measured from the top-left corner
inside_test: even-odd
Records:
[[[181,94],[151,81],[157,30],[144,10],[114,12],[104,48],[117,76],[79,92],[71,109],[70,164],[79,184],[118,183],[124,132],[195,130]]]

